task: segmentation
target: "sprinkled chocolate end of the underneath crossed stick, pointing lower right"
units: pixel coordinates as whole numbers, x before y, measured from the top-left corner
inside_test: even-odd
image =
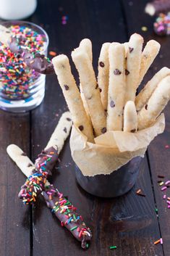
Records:
[[[90,228],[85,225],[72,203],[52,184],[45,187],[43,197],[51,212],[61,221],[61,226],[65,226],[78,241],[81,241],[83,249],[88,248],[88,241],[92,238]]]

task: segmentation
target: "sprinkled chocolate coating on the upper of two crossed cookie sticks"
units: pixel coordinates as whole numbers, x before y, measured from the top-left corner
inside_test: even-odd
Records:
[[[18,197],[22,199],[25,205],[35,202],[38,194],[41,194],[44,190],[46,178],[51,175],[51,171],[58,159],[57,151],[52,146],[38,154],[38,158],[35,160],[35,170],[27,178],[18,194]]]

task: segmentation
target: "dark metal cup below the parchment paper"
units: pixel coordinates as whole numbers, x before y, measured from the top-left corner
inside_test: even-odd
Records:
[[[111,174],[92,177],[83,176],[76,165],[75,176],[82,189],[94,196],[119,197],[126,194],[135,185],[142,160],[142,157],[134,157]]]

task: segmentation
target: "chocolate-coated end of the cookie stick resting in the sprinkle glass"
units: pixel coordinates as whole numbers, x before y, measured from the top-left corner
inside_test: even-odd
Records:
[[[27,67],[30,67],[31,69],[37,71],[38,73],[41,73],[44,75],[54,73],[54,66],[52,62],[48,58],[46,58],[44,54],[39,54],[39,53],[33,54],[31,53],[30,50],[28,50],[25,47],[24,37],[10,38],[9,49],[15,54],[18,54],[18,56],[22,57]]]

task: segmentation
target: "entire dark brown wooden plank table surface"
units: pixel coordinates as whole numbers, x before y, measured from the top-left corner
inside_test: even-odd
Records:
[[[49,49],[57,54],[70,56],[82,38],[90,38],[95,70],[103,42],[124,42],[134,32],[140,33],[145,41],[156,39],[161,43],[161,52],[145,76],[146,82],[161,67],[169,66],[170,57],[170,38],[154,35],[154,19],[144,13],[146,2],[39,0],[38,9],[29,20],[43,25],[50,38]],[[64,15],[68,16],[66,25],[61,24]],[[143,26],[148,30],[143,31]],[[77,186],[67,140],[61,153],[61,163],[56,166],[51,181],[69,195],[92,228],[93,239],[88,252],[83,251],[69,231],[60,226],[43,199],[33,207],[25,207],[17,198],[25,176],[7,156],[7,145],[19,145],[35,160],[66,109],[56,76],[51,75],[46,79],[46,96],[40,107],[22,115],[0,111],[0,255],[169,256],[170,209],[167,209],[157,183],[159,174],[170,178],[170,149],[166,146],[170,144],[169,107],[165,110],[166,131],[150,144],[135,188],[116,199],[96,198]],[[137,196],[137,189],[143,189],[146,197]],[[160,237],[163,238],[163,246],[154,245],[153,242]],[[109,249],[111,245],[116,245],[117,249]]]

